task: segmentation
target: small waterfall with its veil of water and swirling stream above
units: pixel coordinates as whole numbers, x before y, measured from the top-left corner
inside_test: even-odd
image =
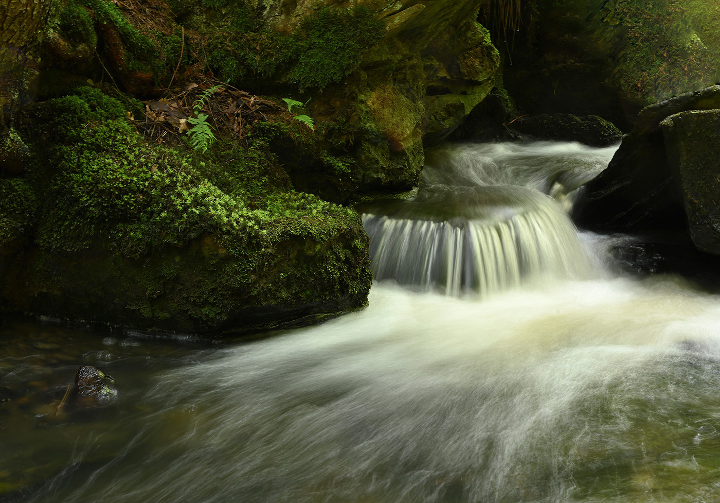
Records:
[[[375,279],[489,295],[545,277],[592,277],[560,201],[572,200],[612,151],[543,145],[444,148],[428,155],[414,200],[361,208]]]

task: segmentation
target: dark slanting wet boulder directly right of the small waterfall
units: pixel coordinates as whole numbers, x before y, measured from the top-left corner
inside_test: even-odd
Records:
[[[717,108],[720,86],[683,94],[642,110],[608,168],[585,186],[585,195],[575,207],[575,221],[580,226],[607,231],[685,228],[680,175],[668,160],[660,123],[681,112]],[[670,151],[675,150],[670,147]]]

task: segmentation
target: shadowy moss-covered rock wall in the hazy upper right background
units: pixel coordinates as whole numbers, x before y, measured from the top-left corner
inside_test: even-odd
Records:
[[[600,115],[624,131],[649,104],[719,80],[715,0],[536,1],[508,43],[505,84],[526,113]]]

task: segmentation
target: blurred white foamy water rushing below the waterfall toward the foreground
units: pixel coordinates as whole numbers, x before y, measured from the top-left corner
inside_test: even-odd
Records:
[[[718,326],[670,280],[374,285],[366,311],[158,375],[125,453],[58,501],[701,501]]]

